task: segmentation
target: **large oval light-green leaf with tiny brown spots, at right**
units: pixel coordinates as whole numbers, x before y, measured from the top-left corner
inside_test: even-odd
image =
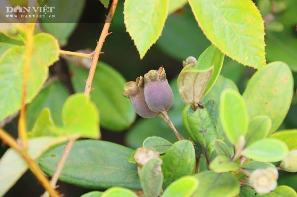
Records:
[[[292,96],[292,73],[283,62],[272,62],[257,71],[243,93],[250,118],[267,115],[271,119],[270,133],[276,131],[286,117]]]

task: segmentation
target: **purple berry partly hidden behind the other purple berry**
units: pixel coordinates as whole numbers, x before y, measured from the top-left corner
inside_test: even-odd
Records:
[[[130,102],[136,113],[143,118],[153,118],[158,113],[153,112],[148,108],[144,94],[144,79],[142,76],[138,77],[136,81],[129,81],[124,86],[125,92],[122,94],[130,98]]]

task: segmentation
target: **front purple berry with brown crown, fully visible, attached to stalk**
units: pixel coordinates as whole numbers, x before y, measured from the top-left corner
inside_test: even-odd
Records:
[[[169,110],[173,105],[173,92],[166,79],[163,67],[150,70],[144,75],[145,99],[149,109],[154,112]]]

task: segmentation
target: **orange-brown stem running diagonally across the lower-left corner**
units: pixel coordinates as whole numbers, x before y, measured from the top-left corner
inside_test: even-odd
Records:
[[[60,197],[58,193],[53,189],[53,187],[51,187],[49,180],[41,171],[41,169],[38,167],[38,165],[34,162],[34,160],[32,160],[32,158],[28,155],[28,153],[19,146],[19,144],[11,135],[9,135],[6,131],[4,131],[1,128],[0,128],[0,138],[4,143],[6,143],[8,146],[13,148],[21,155],[21,157],[27,163],[29,169],[33,172],[33,174],[41,183],[41,185],[49,192],[50,196]]]

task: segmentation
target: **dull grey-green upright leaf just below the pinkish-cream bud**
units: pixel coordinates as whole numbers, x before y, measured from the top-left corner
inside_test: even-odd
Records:
[[[141,169],[139,179],[145,197],[158,197],[163,184],[162,160],[153,158]]]

